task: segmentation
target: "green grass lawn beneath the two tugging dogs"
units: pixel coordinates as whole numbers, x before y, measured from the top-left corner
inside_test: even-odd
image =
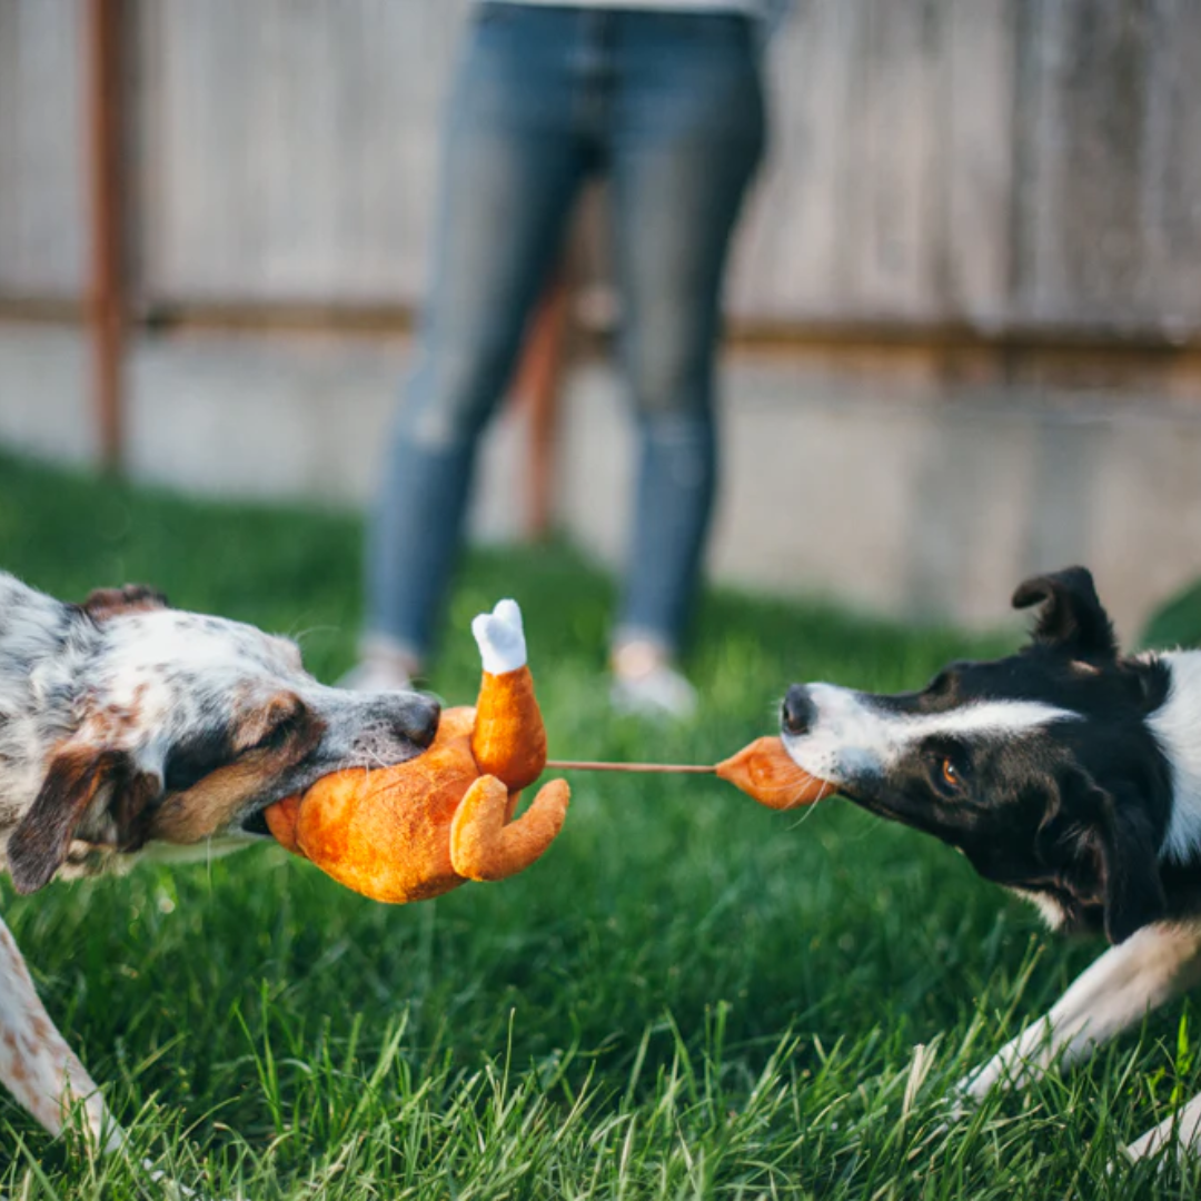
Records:
[[[802,538],[803,528],[797,537]],[[0,459],[0,564],[66,597],[174,603],[351,661],[360,531]],[[1003,639],[706,597],[704,705],[656,734],[607,707],[613,585],[569,549],[465,564],[431,685],[470,700],[471,615],[516,596],[560,757],[712,761],[794,679],[924,681]],[[1201,1091],[1188,1002],[1093,1064],[943,1128],[942,1098],[1098,952],[937,843],[843,801],[773,814],[716,781],[573,781],[527,873],[374,904],[274,848],[54,885],[5,920],[135,1151],[214,1197],[1136,1197],[1106,1165]],[[922,1045],[925,1053],[915,1053]],[[155,1195],[0,1097],[0,1193]],[[139,1183],[139,1179],[142,1183]],[[1155,1195],[1194,1197],[1175,1169]]]

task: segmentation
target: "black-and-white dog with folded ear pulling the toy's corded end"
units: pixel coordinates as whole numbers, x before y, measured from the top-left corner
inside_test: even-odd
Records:
[[[856,805],[924,830],[1113,945],[961,1085],[966,1101],[1087,1058],[1201,982],[1201,652],[1118,653],[1092,575],[1027,580],[1028,646],[952,663],[921,692],[794,685],[793,759]],[[1128,1148],[1201,1152],[1201,1097]]]

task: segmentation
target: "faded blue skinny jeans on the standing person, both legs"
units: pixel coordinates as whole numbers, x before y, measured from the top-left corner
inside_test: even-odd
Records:
[[[369,635],[429,653],[480,431],[573,202],[603,174],[640,441],[619,637],[679,644],[717,478],[722,276],[764,143],[757,35],[733,14],[478,10],[443,143],[432,288],[369,531]]]

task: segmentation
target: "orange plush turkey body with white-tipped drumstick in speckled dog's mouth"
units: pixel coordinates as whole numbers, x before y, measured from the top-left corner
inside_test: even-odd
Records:
[[[567,783],[552,779],[513,820],[521,789],[546,763],[521,610],[501,600],[471,629],[484,661],[474,709],[446,710],[416,759],[333,772],[265,811],[282,846],[376,901],[423,901],[464,880],[514,876],[567,814]]]

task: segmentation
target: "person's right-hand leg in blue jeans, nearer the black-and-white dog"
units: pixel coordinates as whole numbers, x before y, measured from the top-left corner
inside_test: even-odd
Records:
[[[640,452],[614,658],[639,676],[675,653],[699,585],[722,277],[765,121],[749,22],[643,12],[617,28],[614,245]]]

